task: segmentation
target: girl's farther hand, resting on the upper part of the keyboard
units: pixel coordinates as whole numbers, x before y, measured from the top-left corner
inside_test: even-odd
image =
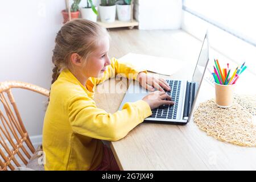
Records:
[[[161,92],[164,92],[163,88],[167,91],[171,90],[166,80],[164,80],[163,78],[158,79],[151,77],[144,72],[138,74],[137,80],[139,81],[139,84],[141,84],[143,88],[150,91],[155,91],[155,88],[157,90],[160,90]]]

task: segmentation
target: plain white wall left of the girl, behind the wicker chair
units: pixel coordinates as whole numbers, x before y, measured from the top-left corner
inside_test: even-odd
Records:
[[[52,49],[62,26],[62,9],[64,0],[1,2],[0,81],[50,88]],[[13,94],[30,136],[41,135],[46,97],[21,89],[13,89]]]

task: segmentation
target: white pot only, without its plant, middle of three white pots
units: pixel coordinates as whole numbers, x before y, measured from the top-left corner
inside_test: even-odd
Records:
[[[115,21],[116,6],[99,6],[101,22],[113,23]]]

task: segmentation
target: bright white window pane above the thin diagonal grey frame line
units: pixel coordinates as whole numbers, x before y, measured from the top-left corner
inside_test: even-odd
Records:
[[[253,0],[185,0],[183,5],[256,46],[256,2]]]

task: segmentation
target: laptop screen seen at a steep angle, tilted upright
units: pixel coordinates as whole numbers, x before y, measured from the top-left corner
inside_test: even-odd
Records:
[[[209,46],[208,46],[208,35],[205,34],[203,46],[201,48],[199,58],[197,60],[196,68],[193,73],[192,81],[199,84],[204,76],[204,70],[207,66],[209,59]]]

